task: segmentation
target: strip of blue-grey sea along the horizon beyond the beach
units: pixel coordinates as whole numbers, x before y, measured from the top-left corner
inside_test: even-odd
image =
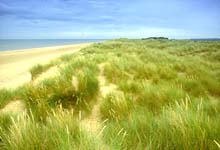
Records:
[[[105,41],[105,39],[0,39],[0,51],[102,41]]]

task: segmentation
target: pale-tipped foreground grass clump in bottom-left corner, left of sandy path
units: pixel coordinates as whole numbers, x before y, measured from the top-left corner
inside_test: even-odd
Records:
[[[1,138],[3,149],[97,149],[96,141],[80,128],[71,110],[54,110],[44,124],[23,114],[12,119]]]

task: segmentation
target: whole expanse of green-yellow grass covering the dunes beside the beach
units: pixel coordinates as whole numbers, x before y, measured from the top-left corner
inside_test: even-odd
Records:
[[[56,67],[58,73],[38,80]],[[0,149],[220,149],[220,42],[95,43],[0,90]]]

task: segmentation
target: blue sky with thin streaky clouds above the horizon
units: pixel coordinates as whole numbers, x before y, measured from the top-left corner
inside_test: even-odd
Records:
[[[0,39],[220,38],[220,0],[0,0]]]

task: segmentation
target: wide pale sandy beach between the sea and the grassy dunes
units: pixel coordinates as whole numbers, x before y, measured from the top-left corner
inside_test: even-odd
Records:
[[[30,68],[70,54],[92,43],[0,52],[0,88],[16,88],[31,81]]]

